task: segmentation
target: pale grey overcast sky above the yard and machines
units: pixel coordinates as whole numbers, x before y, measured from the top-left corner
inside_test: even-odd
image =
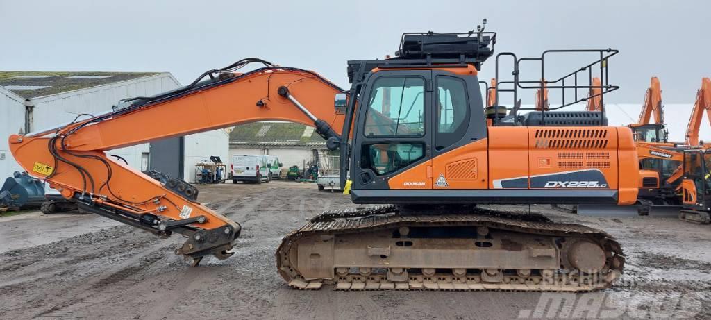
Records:
[[[403,32],[468,31],[488,18],[496,50],[519,57],[619,49],[610,81],[621,90],[606,102],[641,104],[657,75],[665,103],[691,104],[711,76],[710,9],[708,1],[0,0],[0,70],[168,71],[185,85],[259,57],[347,87],[346,60],[392,55]],[[493,65],[484,64],[482,79]]]

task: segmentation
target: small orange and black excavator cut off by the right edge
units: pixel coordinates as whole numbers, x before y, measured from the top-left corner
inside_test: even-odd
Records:
[[[679,218],[693,223],[711,223],[711,151],[684,151],[683,210]]]

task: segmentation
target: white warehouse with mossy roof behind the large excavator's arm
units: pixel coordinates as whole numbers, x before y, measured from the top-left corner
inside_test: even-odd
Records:
[[[7,138],[11,134],[57,127],[82,113],[109,112],[119,100],[156,95],[177,87],[180,84],[170,73],[0,72],[0,180],[22,171],[9,151]],[[161,162],[175,159],[173,167],[180,169],[166,173],[189,182],[194,181],[196,163],[210,156],[228,156],[229,137],[225,130],[173,139],[179,139],[181,147],[168,149],[174,156],[162,154]],[[107,154],[121,156],[129,166],[141,171],[165,167],[164,163],[151,165],[156,156],[151,156],[152,144],[115,149]]]

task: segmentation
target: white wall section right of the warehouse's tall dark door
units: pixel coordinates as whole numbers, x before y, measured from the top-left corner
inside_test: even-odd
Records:
[[[185,137],[185,166],[183,180],[196,182],[195,164],[207,161],[210,156],[219,156],[230,169],[229,164],[230,135],[223,129],[217,129]]]

